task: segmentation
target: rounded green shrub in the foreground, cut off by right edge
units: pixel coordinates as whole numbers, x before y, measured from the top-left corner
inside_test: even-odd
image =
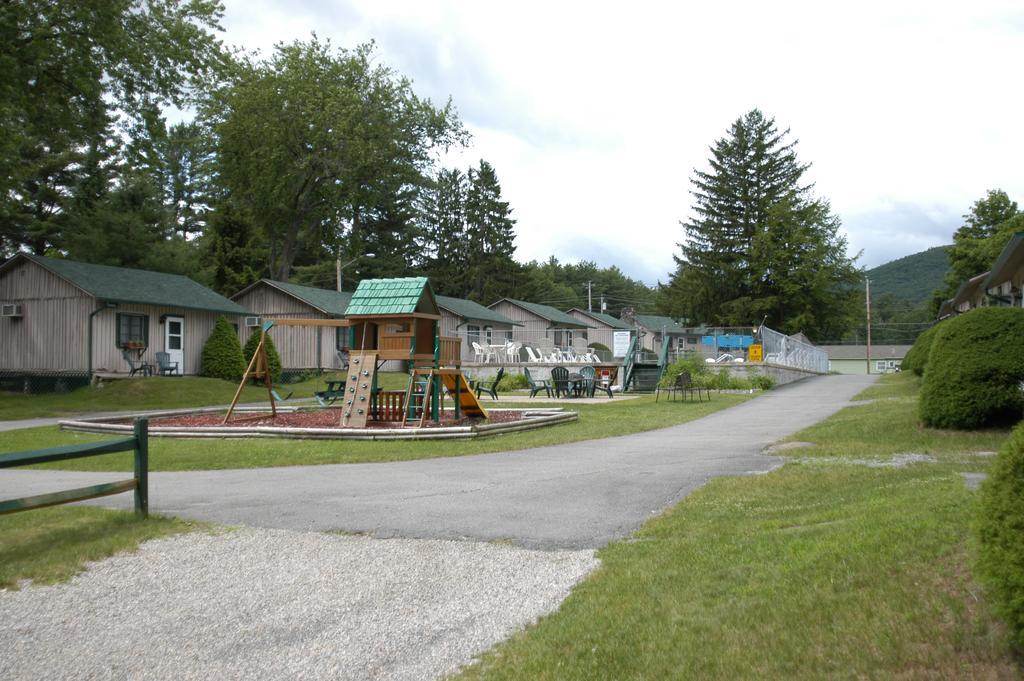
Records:
[[[996,612],[1024,649],[1024,426],[999,451],[978,504],[978,567]]]

